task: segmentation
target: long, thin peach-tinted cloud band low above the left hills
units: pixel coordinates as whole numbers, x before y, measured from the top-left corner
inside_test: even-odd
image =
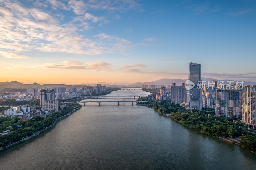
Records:
[[[8,69],[14,68],[42,68],[42,69],[76,69],[76,70],[84,70],[84,69],[95,69],[95,70],[103,70],[110,69],[112,67],[111,64],[105,61],[95,61],[95,62],[79,62],[79,61],[63,61],[60,63],[45,63],[42,65],[36,66],[22,66],[22,65],[14,65],[10,67],[6,67]]]

